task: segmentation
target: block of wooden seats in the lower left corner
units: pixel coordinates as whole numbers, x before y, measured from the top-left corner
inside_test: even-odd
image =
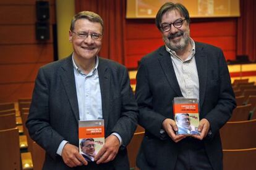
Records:
[[[4,139],[0,143],[4,153],[0,169],[42,169],[45,151],[33,142],[25,127],[30,102],[31,99],[19,99],[16,103],[0,103],[0,136]]]

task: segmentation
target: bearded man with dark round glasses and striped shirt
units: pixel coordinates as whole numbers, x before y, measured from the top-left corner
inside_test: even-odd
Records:
[[[137,156],[142,170],[223,169],[219,130],[236,100],[223,52],[190,38],[189,24],[186,7],[166,2],[156,15],[164,46],[140,60],[135,97],[145,128]],[[176,135],[174,97],[198,99],[200,135]]]

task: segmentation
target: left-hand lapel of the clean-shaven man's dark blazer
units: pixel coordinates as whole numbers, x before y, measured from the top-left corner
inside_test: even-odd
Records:
[[[77,102],[77,91],[75,89],[75,76],[74,76],[74,67],[72,63],[72,55],[70,55],[62,65],[61,69],[61,80],[64,84],[64,88],[69,99],[72,111],[75,115],[77,121],[79,121],[79,108]]]

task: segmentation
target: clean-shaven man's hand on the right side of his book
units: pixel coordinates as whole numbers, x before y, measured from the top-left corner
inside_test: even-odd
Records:
[[[114,160],[119,150],[119,144],[119,139],[116,136],[110,135],[109,137],[107,137],[105,140],[105,144],[95,156],[94,160],[96,161],[96,163],[107,163]]]

